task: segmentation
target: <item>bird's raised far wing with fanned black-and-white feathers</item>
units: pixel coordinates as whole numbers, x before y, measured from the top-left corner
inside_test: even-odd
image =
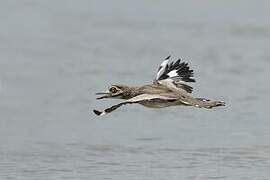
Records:
[[[192,93],[193,88],[186,83],[195,82],[193,75],[193,70],[189,68],[188,63],[181,62],[181,59],[170,62],[170,56],[168,56],[161,63],[154,83]]]

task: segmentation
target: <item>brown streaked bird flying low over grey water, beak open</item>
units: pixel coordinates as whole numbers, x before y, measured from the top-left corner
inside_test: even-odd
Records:
[[[189,83],[195,83],[194,71],[190,69],[188,63],[182,62],[181,59],[171,61],[170,58],[171,56],[168,56],[163,60],[152,84],[141,87],[114,84],[106,92],[96,93],[96,95],[100,95],[96,98],[97,100],[114,98],[124,101],[103,111],[94,109],[93,112],[97,116],[102,116],[127,104],[140,104],[148,108],[193,106],[211,109],[225,106],[224,101],[193,97],[191,95],[193,87]]]

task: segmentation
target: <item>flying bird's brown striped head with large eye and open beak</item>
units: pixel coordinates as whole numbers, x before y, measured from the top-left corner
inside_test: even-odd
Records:
[[[128,99],[130,98],[131,89],[125,85],[112,85],[106,92],[96,93],[96,95],[102,95],[97,99],[104,98],[117,98],[117,99]]]

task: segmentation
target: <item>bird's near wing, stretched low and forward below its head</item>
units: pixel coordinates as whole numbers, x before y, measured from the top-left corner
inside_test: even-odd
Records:
[[[165,96],[160,96],[160,95],[155,95],[155,94],[141,94],[141,95],[135,96],[135,97],[133,97],[131,99],[128,99],[128,100],[126,100],[124,102],[121,102],[119,104],[111,106],[111,107],[105,109],[102,112],[98,111],[98,110],[93,110],[93,112],[97,116],[102,116],[102,115],[108,114],[108,113],[118,109],[122,105],[134,104],[134,103],[142,103],[142,102],[152,101],[152,100],[168,100],[168,101],[172,101],[172,100],[176,100],[176,99],[175,98],[165,97]]]

